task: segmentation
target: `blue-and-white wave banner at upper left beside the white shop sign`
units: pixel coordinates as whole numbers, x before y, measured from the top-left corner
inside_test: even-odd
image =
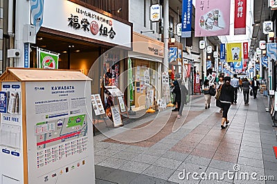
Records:
[[[43,23],[44,0],[30,0],[30,13],[32,16],[33,24],[35,25],[35,33]]]

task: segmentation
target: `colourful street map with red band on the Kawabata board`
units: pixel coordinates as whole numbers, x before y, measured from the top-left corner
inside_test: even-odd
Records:
[[[81,138],[87,135],[87,116],[81,114],[37,122],[35,135],[37,136],[37,149],[44,149],[62,142]]]

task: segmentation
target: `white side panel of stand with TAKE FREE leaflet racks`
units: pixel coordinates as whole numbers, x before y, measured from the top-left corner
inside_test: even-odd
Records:
[[[0,172],[7,177],[2,177],[0,183],[12,183],[23,180],[21,83],[2,82],[1,91],[6,93],[7,99],[3,104],[4,113],[1,113]],[[12,169],[8,169],[11,165]]]

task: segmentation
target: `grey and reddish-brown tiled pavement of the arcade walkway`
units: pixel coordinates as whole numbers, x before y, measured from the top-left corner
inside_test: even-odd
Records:
[[[96,183],[277,183],[276,129],[265,111],[267,98],[258,95],[249,104],[238,93],[223,130],[215,101],[205,110],[202,97],[192,100],[177,122],[177,113],[168,109],[94,136]],[[217,174],[220,180],[213,179]],[[249,180],[240,179],[247,175]],[[260,176],[275,180],[253,179]]]

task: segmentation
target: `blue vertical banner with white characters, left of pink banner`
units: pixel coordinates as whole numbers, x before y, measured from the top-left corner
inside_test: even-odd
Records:
[[[181,37],[191,37],[192,0],[183,0],[181,17]]]

